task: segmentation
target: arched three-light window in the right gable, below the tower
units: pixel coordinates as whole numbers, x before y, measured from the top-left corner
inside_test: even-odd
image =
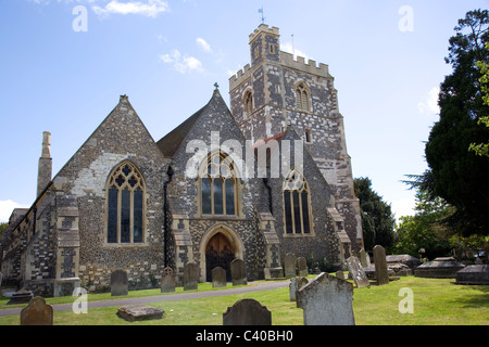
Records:
[[[283,191],[285,233],[311,234],[311,200],[304,176],[296,169],[291,170],[284,181]]]

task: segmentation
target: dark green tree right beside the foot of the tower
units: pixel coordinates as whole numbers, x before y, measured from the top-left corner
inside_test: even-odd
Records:
[[[390,205],[372,190],[368,177],[354,179],[354,190],[360,200],[365,249],[372,250],[375,245],[390,248],[396,224]]]

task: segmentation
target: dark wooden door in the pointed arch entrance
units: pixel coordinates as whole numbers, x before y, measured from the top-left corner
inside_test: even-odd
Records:
[[[211,271],[221,267],[226,270],[226,281],[230,281],[230,262],[235,259],[235,249],[229,239],[222,232],[216,233],[205,247],[205,280],[212,281]]]

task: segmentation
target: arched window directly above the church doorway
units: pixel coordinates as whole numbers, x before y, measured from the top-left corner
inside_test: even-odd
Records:
[[[225,153],[210,155],[201,167],[202,215],[236,216],[237,175],[233,159]]]

